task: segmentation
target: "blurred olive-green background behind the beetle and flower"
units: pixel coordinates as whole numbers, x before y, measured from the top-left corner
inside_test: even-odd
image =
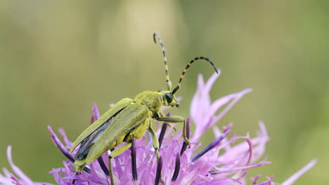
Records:
[[[328,175],[328,1],[0,1],[0,167],[13,160],[35,181],[65,157],[47,125],[73,140],[122,97],[166,88],[157,31],[173,83],[192,57],[210,57],[222,71],[212,100],[252,87],[218,125],[254,136],[264,121],[273,163],[252,170],[280,182],[318,158],[297,184]],[[200,62],[202,63],[202,62]],[[188,71],[179,95],[188,116],[198,73]],[[204,144],[213,137],[203,138]],[[263,176],[264,177],[264,176]]]

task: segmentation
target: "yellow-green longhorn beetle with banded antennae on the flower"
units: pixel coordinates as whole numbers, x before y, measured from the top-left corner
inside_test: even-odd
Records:
[[[99,158],[105,151],[113,149],[115,146],[125,142],[126,144],[113,150],[109,155],[109,167],[110,167],[110,179],[111,184],[114,184],[114,178],[112,173],[111,158],[115,158],[120,153],[126,151],[131,146],[131,142],[134,138],[141,139],[144,132],[148,130],[152,136],[153,147],[157,159],[160,158],[159,142],[155,131],[151,127],[151,118],[169,123],[183,123],[183,139],[190,145],[188,138],[186,137],[186,121],[181,116],[164,116],[161,107],[171,106],[179,107],[175,93],[181,86],[181,81],[186,73],[188,67],[191,66],[195,60],[206,60],[209,62],[214,70],[218,73],[214,63],[207,57],[195,57],[188,63],[183,70],[179,83],[172,90],[172,82],[169,80],[169,72],[167,65],[166,52],[162,40],[156,32],[153,34],[154,42],[159,40],[162,48],[162,54],[164,57],[164,68],[167,81],[167,90],[158,91],[144,91],[135,97],[134,100],[130,98],[124,98],[111,107],[101,118],[91,124],[72,145],[70,153],[80,144],[79,150],[75,155],[75,170],[82,172],[84,167],[94,160]]]

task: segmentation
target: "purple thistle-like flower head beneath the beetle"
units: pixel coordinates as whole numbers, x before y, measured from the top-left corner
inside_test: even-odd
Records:
[[[209,91],[212,84],[218,78],[212,75],[205,83],[202,75],[198,76],[198,90],[191,104],[191,118],[195,124],[195,132],[191,133],[191,148],[181,138],[182,130],[174,132],[167,123],[157,123],[157,135],[160,140],[160,159],[157,160],[152,146],[150,134],[142,139],[134,139],[133,147],[116,158],[112,159],[115,184],[159,184],[160,177],[164,184],[276,184],[273,176],[266,177],[266,181],[259,182],[259,177],[247,179],[250,168],[260,167],[270,163],[262,157],[266,142],[269,141],[264,123],[259,123],[257,137],[250,138],[249,132],[245,136],[232,133],[233,124],[228,124],[222,129],[215,125],[226,112],[233,107],[241,97],[250,93],[251,89],[242,90],[214,101],[210,101]],[[221,108],[219,114],[216,112]],[[96,104],[93,105],[91,123],[100,116]],[[187,119],[188,135],[190,135],[190,118]],[[175,125],[175,124],[172,124]],[[214,139],[208,145],[201,147],[200,137],[205,130],[212,128]],[[53,168],[49,174],[53,174],[58,184],[110,184],[108,177],[108,153],[84,168],[84,172],[76,174],[73,170],[74,156],[68,153],[72,142],[67,139],[63,129],[60,135],[63,143],[49,126],[51,138],[69,160],[63,161],[63,167]],[[8,160],[13,172],[4,169],[4,176],[0,174],[0,184],[41,184],[28,178],[11,160],[11,146],[8,146]],[[307,172],[316,163],[311,160],[309,164],[284,181],[283,185],[292,184],[304,172]]]

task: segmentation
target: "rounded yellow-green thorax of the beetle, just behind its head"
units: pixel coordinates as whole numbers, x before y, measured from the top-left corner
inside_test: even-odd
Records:
[[[146,105],[153,113],[160,111],[163,104],[160,93],[155,91],[144,91],[140,93],[135,97],[134,102],[136,102],[136,104]]]

